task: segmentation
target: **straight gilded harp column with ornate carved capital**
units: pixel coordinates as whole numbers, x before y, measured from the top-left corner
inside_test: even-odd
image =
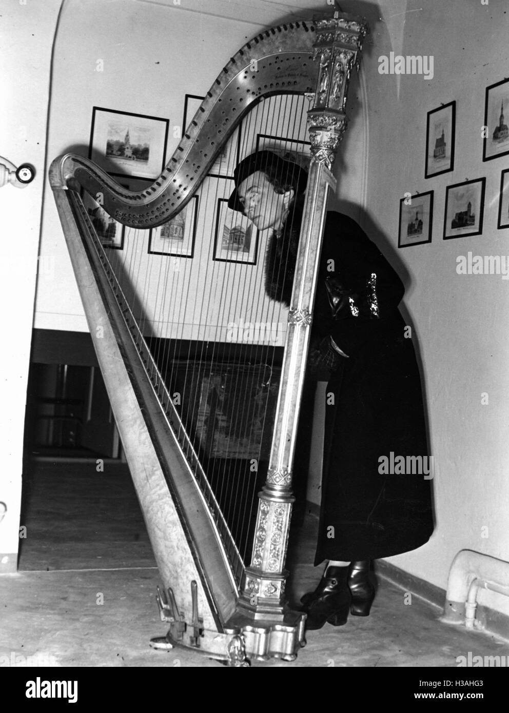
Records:
[[[308,111],[312,160],[299,251],[289,309],[287,341],[267,481],[259,506],[251,565],[246,570],[239,609],[255,620],[283,620],[284,583],[290,515],[292,463],[299,404],[306,369],[322,233],[329,188],[336,181],[331,167],[346,128],[346,93],[351,69],[358,66],[366,26],[336,11],[315,22],[314,61],[317,88]]]

